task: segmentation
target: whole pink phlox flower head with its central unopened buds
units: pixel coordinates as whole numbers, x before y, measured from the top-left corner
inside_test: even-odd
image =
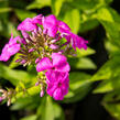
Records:
[[[12,55],[19,53],[19,64],[24,66],[35,65],[37,73],[43,73],[44,78],[39,78],[36,85],[41,84],[41,97],[46,92],[55,100],[63,100],[68,92],[69,70],[66,51],[72,47],[87,48],[87,41],[74,34],[70,28],[55,15],[28,18],[19,24],[22,37],[11,39],[4,45],[0,61],[7,62]],[[65,39],[65,43],[61,41]],[[67,53],[68,54],[68,53]]]

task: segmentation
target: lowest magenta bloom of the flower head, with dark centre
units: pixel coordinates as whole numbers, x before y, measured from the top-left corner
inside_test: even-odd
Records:
[[[63,100],[64,96],[68,92],[69,79],[68,73],[59,73],[56,70],[46,72],[46,92],[55,100]]]

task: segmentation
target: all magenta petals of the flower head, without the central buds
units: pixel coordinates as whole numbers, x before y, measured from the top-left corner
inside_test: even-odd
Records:
[[[41,29],[40,25],[43,25],[43,29]],[[40,14],[35,18],[28,18],[19,24],[18,30],[21,31],[23,39],[20,36],[13,39],[13,35],[11,35],[9,43],[6,44],[2,50],[0,61],[7,62],[10,56],[20,51],[21,44],[26,45],[28,41],[31,41],[31,35],[29,34],[30,32],[34,37],[35,35],[37,36],[37,33],[41,34],[42,31],[44,34],[51,36],[52,41],[48,45],[52,50],[59,48],[59,46],[55,43],[62,37],[67,40],[65,45],[72,44],[75,51],[76,47],[85,50],[87,48],[88,42],[81,36],[74,34],[66,23],[57,20],[53,14],[48,17],[43,17]],[[30,53],[33,51],[34,48],[29,50]],[[67,63],[67,58],[61,53],[62,51],[58,53],[52,53],[51,58],[44,57],[42,59],[36,58],[35,61],[37,72],[46,70],[46,92],[55,100],[63,100],[64,96],[68,92],[69,87],[68,72],[70,70],[70,66]],[[25,59],[23,59],[22,63],[25,63]],[[43,94],[44,91],[42,90],[41,96],[43,96]]]

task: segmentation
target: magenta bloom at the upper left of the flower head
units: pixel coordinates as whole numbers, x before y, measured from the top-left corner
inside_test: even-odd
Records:
[[[21,24],[19,24],[18,30],[33,31],[33,30],[37,29],[36,24],[42,25],[42,14],[36,15],[33,19],[31,19],[31,18],[25,19]]]

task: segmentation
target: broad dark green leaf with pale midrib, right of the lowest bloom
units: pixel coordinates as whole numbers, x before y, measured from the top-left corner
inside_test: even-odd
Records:
[[[73,72],[69,74],[69,91],[63,102],[81,100],[91,89],[90,75]]]

